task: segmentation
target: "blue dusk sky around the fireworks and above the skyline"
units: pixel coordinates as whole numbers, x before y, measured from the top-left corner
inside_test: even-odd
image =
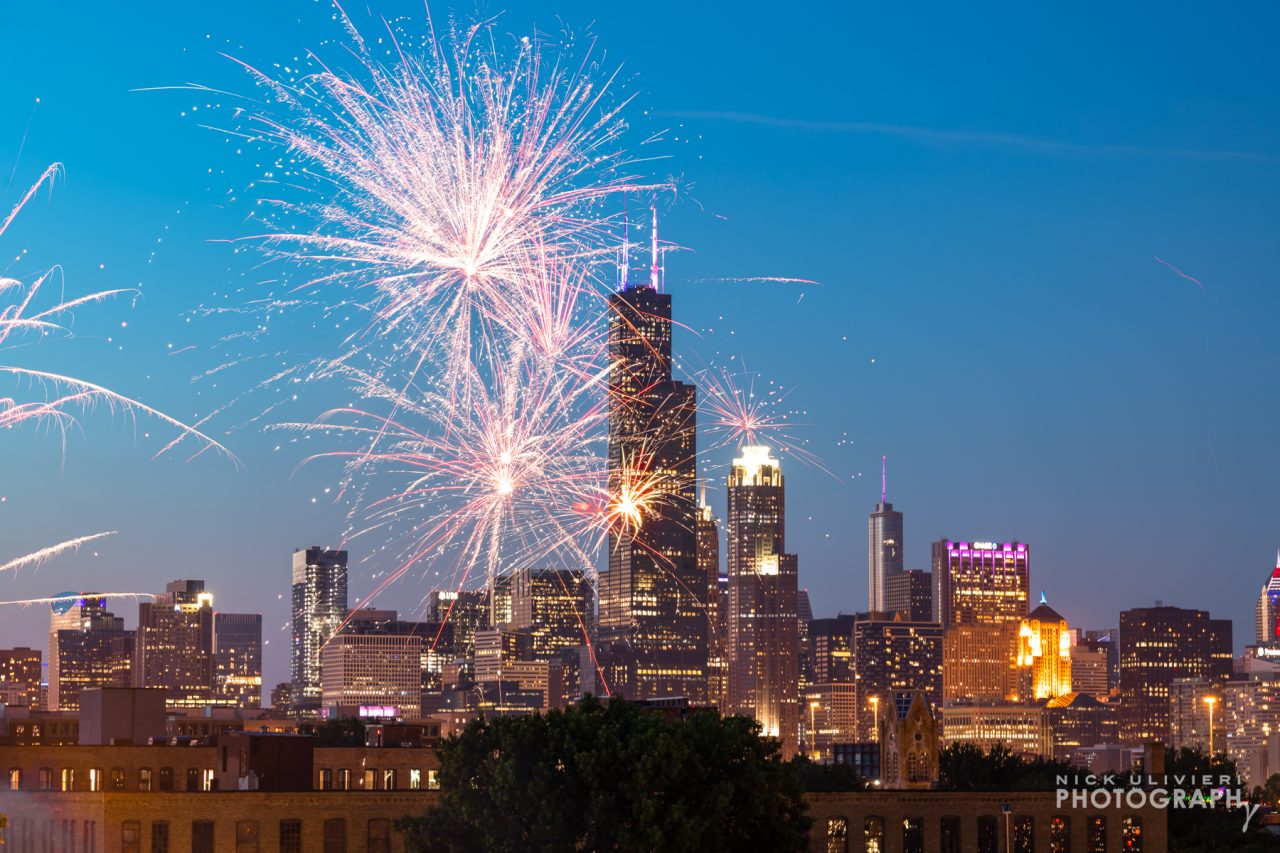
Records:
[[[788,547],[819,615],[865,606],[864,519],[887,453],[909,565],[928,567],[945,535],[1019,538],[1073,625],[1158,598],[1251,640],[1280,546],[1280,12],[890,5],[485,10],[504,33],[594,33],[639,92],[637,136],[668,129],[654,168],[684,196],[664,236],[689,250],[668,283],[698,332],[677,350],[733,353],[806,411],[835,476],[786,464]],[[268,275],[219,242],[246,233],[256,160],[201,127],[225,119],[209,99],[131,90],[247,91],[220,51],[287,63],[337,31],[303,0],[129,6],[5,6],[23,37],[0,86],[0,206],[47,163],[67,172],[3,238],[0,272],[59,264],[69,293],[141,283],[22,357],[198,418],[236,389],[191,382],[225,332],[191,311]],[[685,280],[755,275],[822,284]],[[229,437],[243,469],[152,461],[161,435],[101,414],[65,453],[47,433],[0,438],[0,557],[120,530],[96,557],[0,580],[0,597],[201,576],[219,607],[264,612],[266,679],[282,680],[289,552],[343,524],[328,479],[275,451],[278,434]],[[353,589],[380,569],[361,564]],[[380,603],[411,610],[422,592]],[[0,643],[40,643],[46,620],[5,608]]]

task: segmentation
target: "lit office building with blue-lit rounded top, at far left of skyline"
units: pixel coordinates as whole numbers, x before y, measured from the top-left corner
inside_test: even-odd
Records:
[[[79,694],[88,688],[132,686],[136,639],[96,593],[55,602],[49,617],[49,710],[78,711]]]

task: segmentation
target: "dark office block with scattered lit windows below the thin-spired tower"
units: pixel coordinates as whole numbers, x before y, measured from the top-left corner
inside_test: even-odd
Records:
[[[942,626],[870,613],[854,620],[854,683],[858,685],[858,740],[874,738],[876,712],[895,697],[920,693],[931,707],[942,702]],[[879,708],[883,711],[883,708]],[[906,707],[901,708],[902,716]]]

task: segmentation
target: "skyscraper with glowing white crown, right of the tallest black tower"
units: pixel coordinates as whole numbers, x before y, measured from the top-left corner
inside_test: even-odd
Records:
[[[800,726],[796,593],[782,467],[768,447],[744,447],[728,478],[728,707],[787,754]]]

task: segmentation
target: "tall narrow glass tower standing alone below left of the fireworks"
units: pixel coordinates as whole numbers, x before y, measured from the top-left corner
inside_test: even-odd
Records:
[[[320,649],[347,617],[347,552],[319,546],[293,552],[294,710],[320,706]]]

